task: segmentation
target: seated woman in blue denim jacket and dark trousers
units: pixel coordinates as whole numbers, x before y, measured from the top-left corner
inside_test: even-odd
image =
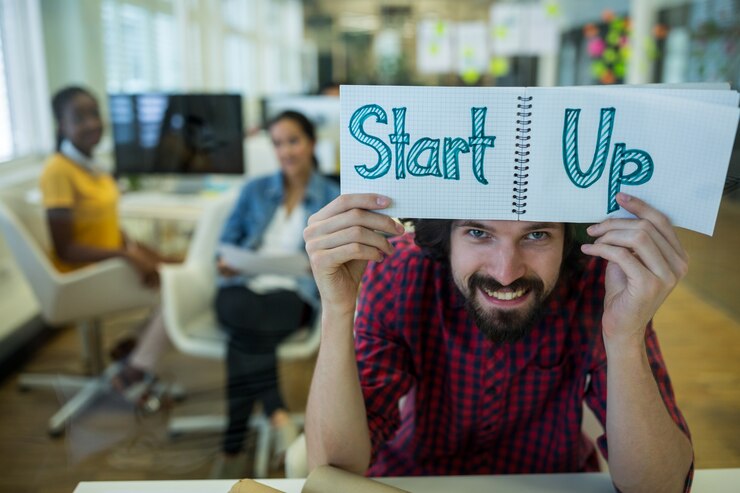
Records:
[[[335,182],[319,174],[314,155],[315,129],[303,114],[286,111],[268,125],[280,171],[249,182],[221,234],[222,244],[257,253],[305,254],[303,229],[308,217],[339,195]],[[310,271],[299,277],[243,275],[218,260],[215,307],[229,335],[226,357],[229,424],[214,477],[243,477],[247,422],[255,401],[277,431],[273,459],[280,460],[297,436],[277,381],[276,349],[292,332],[309,323],[319,306]]]

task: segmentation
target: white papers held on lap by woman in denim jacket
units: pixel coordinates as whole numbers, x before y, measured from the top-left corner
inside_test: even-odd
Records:
[[[244,274],[303,276],[311,271],[308,258],[300,253],[266,255],[229,244],[220,245],[218,252],[226,265]]]

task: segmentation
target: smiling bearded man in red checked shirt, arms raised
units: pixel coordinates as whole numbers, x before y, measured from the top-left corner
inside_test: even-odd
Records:
[[[618,203],[636,218],[595,224],[582,245],[563,223],[411,220],[403,234],[375,194],[312,216],[309,467],[593,471],[597,445],[621,491],[688,490],[689,431],[651,322],[688,257],[662,213]],[[596,445],[584,403],[604,427]]]

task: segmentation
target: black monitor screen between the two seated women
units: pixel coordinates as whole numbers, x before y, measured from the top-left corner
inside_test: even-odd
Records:
[[[111,94],[116,174],[244,173],[241,96]]]

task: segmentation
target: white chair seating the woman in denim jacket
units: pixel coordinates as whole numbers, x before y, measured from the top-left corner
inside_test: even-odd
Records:
[[[234,196],[211,204],[195,228],[186,261],[168,265],[162,271],[162,309],[165,325],[173,345],[186,354],[223,360],[226,357],[226,336],[219,328],[213,310],[216,294],[215,252],[221,228],[234,205]],[[321,338],[320,317],[314,327],[292,334],[277,350],[279,361],[310,358],[318,351]],[[298,425],[302,414],[292,414]],[[253,475],[266,477],[272,428],[264,415],[255,414],[250,427],[257,430],[257,445]],[[223,432],[223,415],[179,417],[170,421],[169,432]]]

